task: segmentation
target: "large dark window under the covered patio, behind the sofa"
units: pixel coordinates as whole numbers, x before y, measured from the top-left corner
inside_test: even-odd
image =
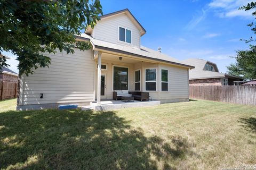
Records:
[[[113,90],[128,90],[128,68],[114,66]]]

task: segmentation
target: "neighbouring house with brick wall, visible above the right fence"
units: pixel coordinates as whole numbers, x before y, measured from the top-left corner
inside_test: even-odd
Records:
[[[189,70],[190,86],[231,86],[234,85],[234,81],[243,80],[240,77],[220,73],[217,64],[210,61],[190,58],[183,62],[195,66],[195,69]]]

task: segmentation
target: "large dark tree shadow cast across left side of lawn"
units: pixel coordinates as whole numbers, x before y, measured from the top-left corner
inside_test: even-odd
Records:
[[[146,137],[115,112],[0,113],[0,168],[176,169],[190,147],[180,136]]]

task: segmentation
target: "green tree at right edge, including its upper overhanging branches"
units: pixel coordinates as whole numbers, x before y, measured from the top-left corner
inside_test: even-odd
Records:
[[[247,4],[247,6],[242,6],[239,10],[251,10],[256,8],[256,3],[252,2]],[[253,16],[256,16],[256,11],[252,12]],[[256,34],[256,23],[247,24],[251,27],[251,30]],[[251,43],[249,45],[249,50],[238,50],[236,56],[235,64],[230,64],[227,66],[228,73],[235,76],[243,76],[246,80],[256,79],[256,46],[254,42],[256,41],[253,37],[250,39],[244,39],[245,43]]]

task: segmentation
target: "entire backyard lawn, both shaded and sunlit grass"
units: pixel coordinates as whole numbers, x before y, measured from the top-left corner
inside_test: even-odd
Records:
[[[11,105],[13,100],[0,103],[1,169],[219,169],[256,164],[255,106],[194,100],[113,112],[6,111]]]

